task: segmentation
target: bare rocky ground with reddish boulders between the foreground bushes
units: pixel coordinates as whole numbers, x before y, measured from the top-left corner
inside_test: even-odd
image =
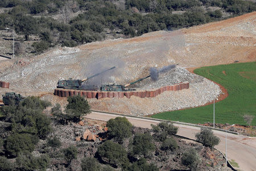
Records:
[[[5,138],[8,134],[7,127],[9,124],[0,122],[1,138]],[[49,135],[49,138],[56,137],[61,140],[60,148],[51,148],[47,146],[47,140],[40,140],[33,151],[34,156],[39,156],[42,153],[48,153],[51,157],[51,163],[48,167],[50,170],[81,170],[81,159],[83,157],[95,156],[98,146],[104,142],[107,137],[106,122],[93,121],[90,119],[84,119],[80,123],[69,123],[68,125],[59,125],[56,122],[52,123],[53,132]],[[94,135],[95,139],[89,139],[89,135],[86,138],[85,132]],[[148,129],[142,129],[139,127],[133,128],[133,134],[136,132],[148,132]],[[152,132],[151,132],[152,134]],[[97,137],[97,138],[96,138]],[[86,139],[86,140],[85,140]],[[154,142],[156,151],[151,153],[148,162],[157,165],[160,170],[187,170],[185,166],[181,164],[181,155],[184,151],[190,148],[195,148],[200,157],[200,165],[198,170],[231,170],[225,165],[225,159],[220,152],[211,150],[208,147],[202,146],[200,143],[195,143],[191,140],[180,139],[174,137],[178,144],[176,151],[162,151],[160,150],[160,143]],[[129,139],[125,140],[123,146],[129,151],[127,145]],[[67,161],[63,159],[62,149],[69,146],[76,146],[78,149],[77,159],[72,160],[68,165]],[[120,169],[116,169],[120,170]]]

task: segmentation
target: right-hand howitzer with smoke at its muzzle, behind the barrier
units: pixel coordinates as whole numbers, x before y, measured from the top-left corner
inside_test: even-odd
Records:
[[[138,79],[135,82],[131,82],[129,84],[126,84],[125,86],[120,85],[120,84],[107,84],[107,85],[103,85],[101,86],[101,91],[135,91],[136,89],[125,89],[128,86],[131,86],[132,84],[141,82],[142,80],[146,79],[150,77],[150,75],[145,76],[144,78]]]

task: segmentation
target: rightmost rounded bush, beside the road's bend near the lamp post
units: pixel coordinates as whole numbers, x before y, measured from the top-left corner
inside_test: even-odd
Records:
[[[220,142],[220,138],[214,136],[212,130],[204,128],[201,128],[201,131],[196,134],[196,140],[202,142],[205,147],[210,148],[213,148]]]

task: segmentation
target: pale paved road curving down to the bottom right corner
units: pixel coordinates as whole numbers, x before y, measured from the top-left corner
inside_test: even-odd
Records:
[[[86,118],[108,121],[110,118],[118,117],[115,114],[92,112]],[[134,126],[151,128],[151,123],[157,124],[159,121],[150,119],[126,117]],[[177,135],[195,139],[195,134],[200,131],[200,127],[174,124],[179,127]],[[220,138],[220,144],[216,146],[222,153],[225,153],[225,132],[213,130],[214,135]],[[249,138],[242,135],[227,134],[228,159],[233,159],[240,166],[240,170],[256,171],[256,138]]]

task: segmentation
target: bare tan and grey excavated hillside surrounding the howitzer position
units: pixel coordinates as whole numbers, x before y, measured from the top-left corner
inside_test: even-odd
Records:
[[[113,71],[88,80],[87,84],[127,84],[149,74],[150,67],[158,69],[179,63],[175,69],[150,78],[133,88],[158,88],[184,81],[189,89],[166,91],[154,98],[88,99],[93,109],[135,115],[147,115],[166,110],[204,105],[221,93],[207,79],[186,69],[249,62],[256,59],[256,12],[167,32],[158,31],[132,39],[92,42],[75,48],[59,48],[30,59],[0,61],[0,80],[10,82],[10,89],[22,95],[41,95],[52,102],[65,104],[65,97],[53,96],[59,79],[83,79],[115,66]]]

